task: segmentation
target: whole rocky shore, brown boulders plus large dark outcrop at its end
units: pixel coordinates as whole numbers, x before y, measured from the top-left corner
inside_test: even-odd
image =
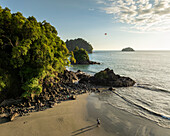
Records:
[[[72,72],[65,70],[57,78],[43,81],[43,90],[37,95],[31,95],[29,99],[9,99],[0,104],[0,119],[12,121],[17,116],[24,116],[30,112],[53,108],[56,104],[65,100],[75,100],[77,95],[87,92],[101,92],[98,85],[113,87],[127,87],[135,84],[129,77],[121,77],[114,74],[113,70],[105,69],[94,76],[81,71]],[[78,82],[79,80],[79,82]],[[77,81],[77,82],[75,82]],[[97,86],[96,86],[97,85]]]

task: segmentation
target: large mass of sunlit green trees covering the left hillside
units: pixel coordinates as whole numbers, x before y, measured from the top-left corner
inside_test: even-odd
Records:
[[[24,97],[42,90],[40,81],[69,65],[69,51],[56,29],[35,17],[0,6],[0,91]]]

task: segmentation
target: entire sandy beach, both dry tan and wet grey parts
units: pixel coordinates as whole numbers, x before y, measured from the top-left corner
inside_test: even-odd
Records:
[[[170,136],[170,129],[110,106],[99,95],[79,95],[77,100],[1,123],[0,136]]]

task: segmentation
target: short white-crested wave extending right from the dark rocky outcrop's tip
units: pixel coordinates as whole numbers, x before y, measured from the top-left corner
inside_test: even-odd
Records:
[[[147,89],[147,90],[150,90],[150,91],[170,93],[169,90],[159,88],[159,87],[154,87],[150,84],[137,84],[136,87]]]

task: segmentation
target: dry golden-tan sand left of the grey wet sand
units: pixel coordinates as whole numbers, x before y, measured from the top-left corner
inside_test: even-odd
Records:
[[[96,120],[88,118],[87,96],[79,95],[77,100],[0,124],[0,136],[103,136]]]

